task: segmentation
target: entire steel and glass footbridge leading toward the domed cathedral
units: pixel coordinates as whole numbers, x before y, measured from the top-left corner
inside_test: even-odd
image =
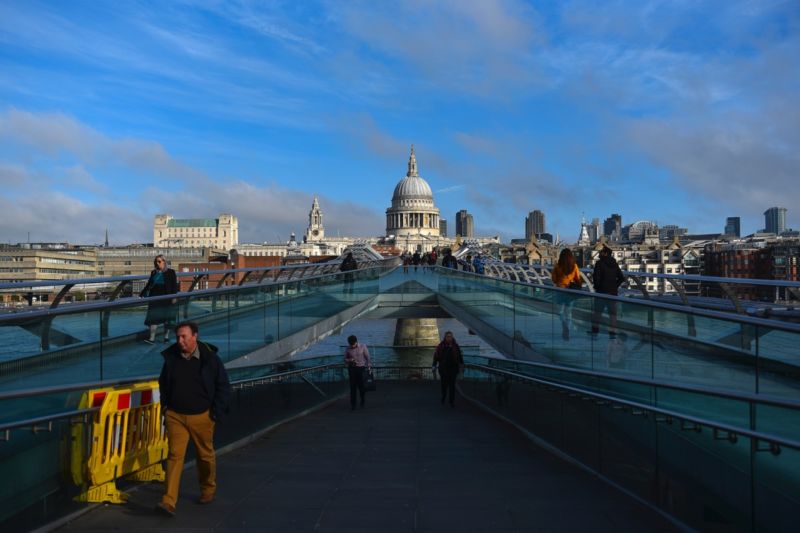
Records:
[[[155,298],[125,296],[144,278],[0,286],[60,288],[48,307],[0,314],[2,531],[796,530],[800,325],[742,312],[736,280],[709,280],[730,297],[703,305],[486,272],[373,258],[352,281],[337,262],[180,273],[179,315],[220,348],[234,394],[217,499],[192,502],[190,469],[172,518],[153,511],[163,348],[142,324]],[[111,290],[66,302],[90,284]],[[598,300],[616,305],[613,332],[604,316],[591,333]],[[406,341],[454,320],[491,350],[459,338],[454,408],[430,346],[373,350],[377,390],[351,412],[341,350],[303,353],[373,319]]]

